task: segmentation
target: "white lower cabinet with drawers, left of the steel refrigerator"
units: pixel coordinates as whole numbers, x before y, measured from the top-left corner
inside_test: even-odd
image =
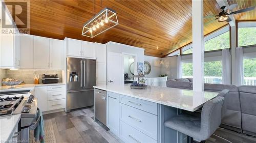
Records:
[[[41,111],[62,109],[66,106],[65,85],[35,87],[35,97]]]

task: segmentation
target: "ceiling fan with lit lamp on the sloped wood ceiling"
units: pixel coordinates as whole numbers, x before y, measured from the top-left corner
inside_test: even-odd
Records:
[[[229,22],[229,21],[231,21],[231,19],[228,17],[228,15],[233,15],[233,14],[250,11],[255,8],[255,6],[253,6],[253,7],[249,7],[249,8],[245,8],[245,9],[241,9],[241,10],[232,12],[232,9],[236,8],[237,6],[238,6],[238,4],[233,4],[233,5],[230,5],[229,7],[222,6],[221,7],[222,11],[218,15],[215,15],[215,17],[216,17],[215,20],[218,19],[219,22],[223,22],[223,21]]]

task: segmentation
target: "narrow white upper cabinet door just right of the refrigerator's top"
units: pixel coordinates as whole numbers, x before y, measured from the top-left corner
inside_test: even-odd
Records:
[[[106,45],[95,43],[97,62],[106,63]]]

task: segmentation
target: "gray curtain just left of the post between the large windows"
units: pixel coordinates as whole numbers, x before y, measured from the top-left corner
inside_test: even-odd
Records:
[[[229,49],[223,49],[222,53],[222,84],[231,84],[231,62]]]

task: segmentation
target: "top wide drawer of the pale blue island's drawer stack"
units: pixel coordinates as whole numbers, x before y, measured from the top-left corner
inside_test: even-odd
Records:
[[[153,103],[150,101],[145,101],[125,95],[120,96],[120,102],[132,107],[135,107],[137,109],[153,113],[154,115],[157,115],[157,103]]]

